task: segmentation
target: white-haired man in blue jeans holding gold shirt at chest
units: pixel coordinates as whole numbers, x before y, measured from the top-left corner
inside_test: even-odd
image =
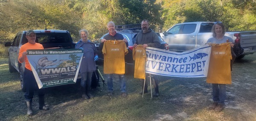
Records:
[[[100,50],[103,49],[104,43],[106,43],[107,40],[123,40],[125,42],[126,48],[127,48],[127,46],[128,46],[127,39],[124,38],[122,36],[122,34],[116,33],[115,24],[112,21],[110,21],[110,22],[108,22],[107,27],[108,27],[109,34],[105,35],[103,37],[103,39],[101,40],[101,43],[99,44],[99,49]],[[114,41],[114,43],[115,43],[115,41]],[[117,43],[119,43],[119,42],[117,42]],[[117,43],[113,47],[119,47],[117,45]],[[113,58],[116,58],[116,57],[113,57]],[[113,58],[110,58],[110,59],[113,59]],[[124,60],[124,58],[122,58],[122,59]],[[105,60],[104,60],[104,63],[105,63]],[[106,65],[104,64],[104,66],[106,66]],[[104,69],[106,69],[106,68],[104,67]],[[118,76],[119,76],[119,84],[120,84],[121,94],[122,94],[122,97],[125,98],[127,96],[127,94],[126,94],[126,85],[125,85],[125,77],[124,77],[124,74],[118,74]],[[110,96],[110,97],[113,96],[113,73],[108,74],[108,96]]]

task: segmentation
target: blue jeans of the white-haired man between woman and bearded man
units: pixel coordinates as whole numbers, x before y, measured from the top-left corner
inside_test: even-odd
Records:
[[[126,92],[125,76],[124,75],[118,75],[118,76],[119,76],[120,90],[121,92]],[[108,74],[108,92],[113,92],[113,74]]]

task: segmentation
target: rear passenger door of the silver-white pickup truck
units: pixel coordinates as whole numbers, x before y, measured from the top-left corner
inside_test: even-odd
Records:
[[[196,43],[196,29],[197,24],[183,24],[179,40],[178,49],[183,52],[195,48]]]

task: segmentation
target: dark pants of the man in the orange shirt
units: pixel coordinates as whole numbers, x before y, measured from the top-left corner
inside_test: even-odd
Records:
[[[26,92],[25,92],[25,95],[24,95],[26,101],[32,101],[35,90],[38,91],[38,97],[44,96],[45,89],[44,88],[43,89],[38,88],[38,85],[35,81],[35,77],[34,77],[32,71],[25,68],[23,79],[24,79],[23,83],[24,83],[24,86],[25,86],[25,89],[26,89]]]

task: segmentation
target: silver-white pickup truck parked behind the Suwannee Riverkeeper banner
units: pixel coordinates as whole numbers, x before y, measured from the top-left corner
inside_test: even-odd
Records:
[[[160,35],[169,44],[170,51],[183,52],[204,45],[212,37],[213,24],[214,22],[178,23]],[[256,52],[256,31],[226,32],[225,35],[233,38],[235,43],[240,43],[244,49],[237,58]]]

